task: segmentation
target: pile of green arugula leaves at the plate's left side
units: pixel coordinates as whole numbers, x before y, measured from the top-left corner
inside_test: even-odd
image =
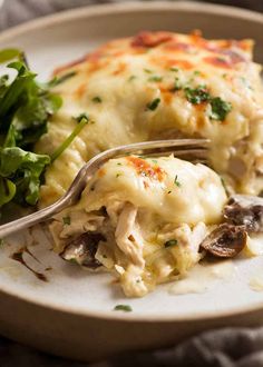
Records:
[[[39,198],[42,173],[50,157],[36,155],[35,142],[47,131],[50,117],[61,107],[50,86],[36,81],[26,56],[17,49],[0,51],[0,62],[17,76],[0,77],[0,207],[10,201],[33,206]]]

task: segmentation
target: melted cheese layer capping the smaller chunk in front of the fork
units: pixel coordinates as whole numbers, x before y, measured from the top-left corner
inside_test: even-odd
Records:
[[[100,168],[82,194],[79,206],[98,210],[105,202],[128,201],[147,209],[153,220],[179,225],[216,224],[222,218],[225,190],[220,177],[203,165],[164,157],[130,156]]]

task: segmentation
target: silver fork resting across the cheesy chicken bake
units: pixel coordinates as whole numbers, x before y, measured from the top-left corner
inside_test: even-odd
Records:
[[[4,238],[18,230],[32,227],[41,221],[50,219],[56,214],[76,204],[96,170],[111,158],[126,155],[147,155],[159,157],[174,153],[193,162],[205,162],[210,140],[207,139],[174,139],[136,142],[127,146],[108,149],[91,158],[78,172],[68,191],[51,206],[33,212],[29,216],[0,226],[0,238]]]

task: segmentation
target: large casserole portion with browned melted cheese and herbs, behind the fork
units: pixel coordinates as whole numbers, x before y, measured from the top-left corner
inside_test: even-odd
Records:
[[[58,76],[75,76],[56,87],[64,106],[37,150],[51,153],[74,130],[79,113],[88,113],[90,123],[47,170],[40,206],[61,197],[96,153],[167,137],[210,138],[213,168],[235,190],[257,195],[263,189],[263,89],[251,54],[250,40],[143,32],[59,68]],[[187,90],[198,88],[210,99],[193,102]],[[216,116],[212,99],[231,110],[222,115],[221,103]]]

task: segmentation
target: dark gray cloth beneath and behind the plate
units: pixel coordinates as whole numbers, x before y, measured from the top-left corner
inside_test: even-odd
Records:
[[[120,1],[120,0],[119,0]],[[6,0],[0,29],[39,16],[103,0]],[[128,0],[123,0],[128,2]],[[208,1],[263,12],[263,0]],[[263,31],[263,30],[262,30]],[[49,356],[0,337],[1,367],[263,367],[263,328],[226,328],[196,336],[181,345],[145,353],[120,355],[98,364],[81,364]]]

